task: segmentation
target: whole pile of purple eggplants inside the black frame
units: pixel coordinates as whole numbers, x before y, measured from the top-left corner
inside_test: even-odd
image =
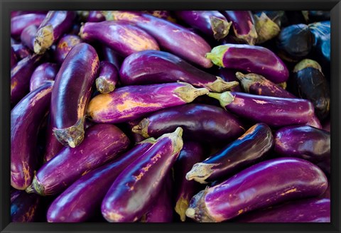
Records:
[[[12,222],[330,222],[327,11],[12,11]]]

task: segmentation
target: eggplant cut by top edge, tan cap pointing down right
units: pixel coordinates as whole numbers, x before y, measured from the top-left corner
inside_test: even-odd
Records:
[[[175,11],[175,15],[189,26],[216,40],[227,36],[232,24],[219,11]]]

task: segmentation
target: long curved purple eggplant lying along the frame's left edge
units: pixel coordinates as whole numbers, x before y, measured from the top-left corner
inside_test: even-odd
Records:
[[[53,83],[30,92],[11,111],[11,186],[25,190],[37,169],[38,131],[48,109]]]

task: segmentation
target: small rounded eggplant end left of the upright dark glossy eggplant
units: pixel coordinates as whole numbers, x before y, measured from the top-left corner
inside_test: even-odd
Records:
[[[54,81],[59,70],[55,63],[43,63],[36,67],[30,80],[30,92],[45,84],[46,81]]]

